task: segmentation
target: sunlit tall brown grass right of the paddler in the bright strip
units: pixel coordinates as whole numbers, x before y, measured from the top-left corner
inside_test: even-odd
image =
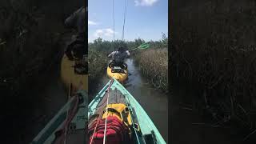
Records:
[[[143,40],[138,39],[138,44]],[[136,41],[135,41],[136,42]],[[162,33],[159,41],[150,41],[150,49],[138,50],[134,53],[134,59],[139,70],[157,89],[168,91],[168,38]]]

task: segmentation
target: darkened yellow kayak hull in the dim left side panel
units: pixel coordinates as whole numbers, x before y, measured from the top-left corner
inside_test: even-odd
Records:
[[[66,54],[62,57],[61,78],[62,82],[69,90],[72,86],[72,92],[77,90],[88,91],[88,74],[76,74],[74,72],[74,61],[70,61]]]

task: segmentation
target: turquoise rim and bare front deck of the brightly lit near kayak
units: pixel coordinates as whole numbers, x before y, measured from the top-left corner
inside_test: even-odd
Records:
[[[110,82],[103,87],[103,89],[98,93],[92,102],[88,106],[88,118],[92,117],[94,114],[98,114],[102,108],[106,107],[106,91]],[[138,122],[141,133],[138,134],[138,142],[136,143],[147,143],[148,136],[153,135],[156,143],[164,144],[166,143],[162,138],[162,135],[158,132],[158,129],[154,126],[149,116],[146,114],[142,106],[135,100],[135,98],[117,81],[114,79],[113,84],[110,86],[110,97],[109,103],[125,103],[133,110],[133,116],[135,121]]]

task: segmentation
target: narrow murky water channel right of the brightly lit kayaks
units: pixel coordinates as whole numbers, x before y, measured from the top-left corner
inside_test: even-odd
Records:
[[[125,84],[126,89],[136,98],[146,113],[150,116],[162,137],[168,143],[168,98],[155,90],[143,78],[133,59],[127,59],[129,76]]]

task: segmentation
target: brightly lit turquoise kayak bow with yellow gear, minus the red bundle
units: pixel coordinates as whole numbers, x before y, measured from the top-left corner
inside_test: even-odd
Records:
[[[126,90],[126,88],[123,87],[122,84],[120,84],[114,78],[111,79],[110,82],[108,82],[106,86],[103,87],[103,89],[96,95],[96,97],[92,102],[90,102],[88,106],[90,142],[94,141],[94,134],[90,134],[90,123],[95,122],[97,119],[102,119],[104,122],[104,119],[106,120],[108,116],[110,118],[117,117],[120,121],[126,123],[126,126],[129,127],[130,133],[128,135],[130,136],[131,142],[128,143],[166,143],[156,126],[154,126],[154,122],[152,122],[150,117],[146,114],[142,106],[140,106],[140,104],[129,93],[129,91]],[[100,125],[100,120],[98,120],[98,125]],[[92,124],[92,127],[93,126],[94,125]],[[104,123],[102,126],[104,126]],[[91,131],[94,129],[95,128],[93,127]],[[99,132],[99,134],[101,133]],[[104,137],[105,135],[106,132],[104,132]],[[110,135],[110,138],[111,137],[113,136]],[[106,143],[111,142],[115,141],[108,141],[106,138]]]

